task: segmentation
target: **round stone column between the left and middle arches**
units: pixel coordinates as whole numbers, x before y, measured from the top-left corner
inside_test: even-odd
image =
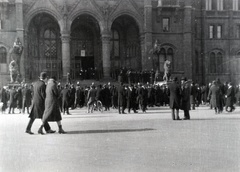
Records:
[[[62,33],[62,75],[63,80],[67,78],[67,73],[71,72],[70,58],[70,33]]]

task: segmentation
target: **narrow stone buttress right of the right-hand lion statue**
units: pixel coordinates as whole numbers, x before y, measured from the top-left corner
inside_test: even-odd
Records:
[[[190,3],[190,2],[189,2]],[[192,79],[193,73],[193,37],[192,37],[192,6],[188,1],[185,2],[184,7],[184,21],[183,21],[183,50],[184,50],[184,75],[188,79]]]

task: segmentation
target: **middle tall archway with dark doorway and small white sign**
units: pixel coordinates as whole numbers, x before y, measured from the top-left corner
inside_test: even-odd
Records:
[[[71,26],[71,73],[74,79],[96,79],[102,69],[100,27],[88,14]],[[99,75],[98,75],[99,77]]]

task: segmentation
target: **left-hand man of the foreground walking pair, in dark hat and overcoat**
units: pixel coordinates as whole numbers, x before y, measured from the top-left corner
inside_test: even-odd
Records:
[[[46,81],[47,74],[46,72],[42,72],[40,74],[39,80],[36,81],[33,85],[33,100],[32,100],[32,109],[29,115],[29,122],[26,128],[26,133],[34,134],[31,131],[32,124],[36,118],[42,119],[43,112],[45,109],[45,98],[46,98]],[[56,131],[51,130],[48,122],[44,124],[44,129],[47,133],[55,133]]]

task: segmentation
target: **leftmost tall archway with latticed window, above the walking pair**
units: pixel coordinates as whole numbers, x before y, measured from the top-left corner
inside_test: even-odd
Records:
[[[62,77],[60,28],[57,20],[47,13],[36,15],[28,28],[28,68],[30,80],[42,71],[48,76]]]

